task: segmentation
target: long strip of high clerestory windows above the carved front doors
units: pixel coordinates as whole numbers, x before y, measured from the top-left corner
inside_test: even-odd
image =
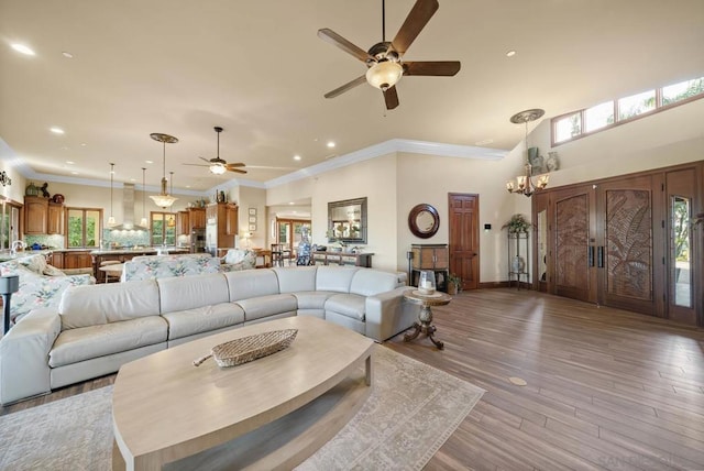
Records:
[[[606,101],[552,119],[552,145],[704,98],[704,77]]]

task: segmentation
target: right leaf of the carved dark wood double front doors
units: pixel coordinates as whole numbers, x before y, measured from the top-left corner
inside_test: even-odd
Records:
[[[662,316],[664,261],[659,175],[598,185],[596,265],[601,304]]]

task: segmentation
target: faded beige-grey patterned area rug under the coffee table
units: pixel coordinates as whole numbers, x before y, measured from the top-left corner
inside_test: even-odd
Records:
[[[382,346],[374,368],[360,412],[297,470],[420,470],[484,393]],[[111,395],[109,386],[0,417],[0,470],[110,470]]]

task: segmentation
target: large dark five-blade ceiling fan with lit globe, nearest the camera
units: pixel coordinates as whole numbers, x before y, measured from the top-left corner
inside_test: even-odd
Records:
[[[453,76],[460,70],[459,61],[405,62],[404,54],[422,31],[430,18],[438,10],[438,0],[418,0],[408,13],[406,21],[396,33],[394,41],[386,41],[386,8],[382,0],[382,42],[374,44],[369,52],[352,44],[334,31],[323,28],[318,30],[318,37],[340,47],[348,54],[366,64],[365,75],[351,80],[324,95],[334,98],[364,81],[382,90],[386,109],[393,110],[398,106],[396,84],[404,75]]]

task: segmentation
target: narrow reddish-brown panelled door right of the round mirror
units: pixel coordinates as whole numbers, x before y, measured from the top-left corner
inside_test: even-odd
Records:
[[[462,278],[463,289],[476,289],[480,283],[479,199],[479,195],[448,195],[450,273]]]

